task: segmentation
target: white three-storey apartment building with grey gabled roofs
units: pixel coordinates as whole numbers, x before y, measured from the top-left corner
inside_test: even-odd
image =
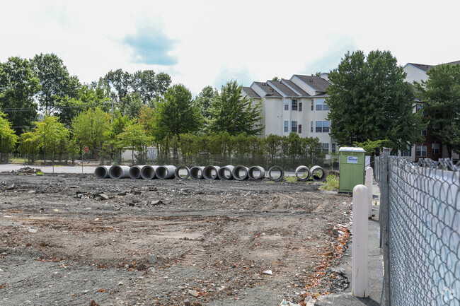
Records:
[[[294,74],[289,80],[253,82],[243,87],[243,94],[262,100],[261,136],[270,134],[288,136],[291,132],[301,137],[318,137],[326,153],[338,151],[330,138],[330,122],[326,119],[326,88],[330,85],[327,73],[321,76]],[[326,155],[326,158],[330,158]]]

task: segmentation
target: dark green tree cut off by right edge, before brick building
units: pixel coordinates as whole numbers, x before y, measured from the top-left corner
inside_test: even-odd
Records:
[[[460,65],[443,64],[427,71],[428,80],[416,83],[427,122],[433,134],[452,150],[460,152]]]

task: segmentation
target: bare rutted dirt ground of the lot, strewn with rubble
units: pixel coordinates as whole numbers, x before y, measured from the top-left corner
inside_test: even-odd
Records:
[[[311,305],[348,286],[320,186],[0,174],[0,305]]]

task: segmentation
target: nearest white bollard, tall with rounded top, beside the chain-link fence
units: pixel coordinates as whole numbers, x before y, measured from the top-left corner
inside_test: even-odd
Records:
[[[352,295],[366,298],[367,292],[367,187],[353,188]]]

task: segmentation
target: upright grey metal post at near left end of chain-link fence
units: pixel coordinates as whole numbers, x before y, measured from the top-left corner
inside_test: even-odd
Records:
[[[390,265],[389,265],[389,155],[390,148],[384,148],[383,167],[381,167],[381,199],[380,199],[380,232],[382,253],[384,255],[384,288],[382,290],[382,305],[391,306],[390,300]]]

